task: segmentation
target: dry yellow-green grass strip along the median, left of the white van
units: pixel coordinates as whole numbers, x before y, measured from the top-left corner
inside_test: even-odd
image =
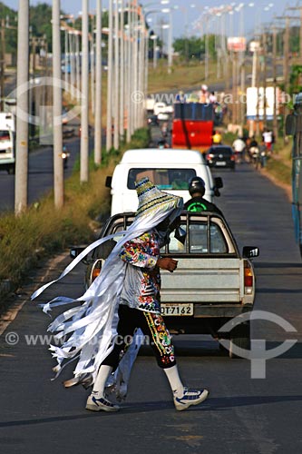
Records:
[[[4,213],[0,217],[0,281],[9,280],[18,285],[41,259],[73,244],[92,242],[102,218],[110,212],[106,176],[112,174],[126,148],[143,148],[149,141],[148,130],[141,129],[133,134],[127,146],[122,143],[119,151],[104,152],[101,166],[90,163],[89,183],[79,183],[79,164],[76,164],[65,184],[62,210],[54,210],[54,197],[50,193],[18,217],[12,212]]]

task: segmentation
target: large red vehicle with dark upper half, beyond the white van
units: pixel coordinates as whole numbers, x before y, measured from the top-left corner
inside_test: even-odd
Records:
[[[172,148],[204,152],[212,144],[214,120],[212,104],[174,104]]]

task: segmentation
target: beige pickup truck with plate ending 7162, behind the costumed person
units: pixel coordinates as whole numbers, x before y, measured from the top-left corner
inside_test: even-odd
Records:
[[[101,238],[127,230],[134,212],[115,214],[102,227]],[[234,317],[251,311],[255,299],[255,273],[251,258],[258,248],[244,247],[239,252],[226,220],[217,212],[182,212],[184,244],[171,233],[162,256],[178,260],[176,272],[161,271],[161,311],[171,333],[211,334],[215,339],[230,339],[229,356],[236,357],[232,344],[249,349],[249,322],[231,331],[221,327]],[[85,273],[86,289],[102,271],[102,264],[120,237],[102,243],[91,252]],[[74,258],[83,247],[73,248]]]

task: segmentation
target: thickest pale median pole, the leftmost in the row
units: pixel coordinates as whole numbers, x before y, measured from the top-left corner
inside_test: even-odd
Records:
[[[27,208],[28,179],[29,0],[19,0],[16,79],[15,214]],[[24,87],[26,86],[26,89]]]

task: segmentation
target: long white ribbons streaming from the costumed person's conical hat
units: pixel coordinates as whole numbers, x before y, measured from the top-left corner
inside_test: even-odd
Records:
[[[65,268],[58,279],[48,282],[34,291],[32,300],[54,282],[63,279],[68,272],[73,270],[74,266],[81,262],[83,257],[102,242],[115,238],[118,234],[122,235],[122,239],[117,242],[105,260],[100,275],[80,298],[72,300],[61,296],[42,305],[43,310],[47,312],[51,311],[52,307],[63,306],[71,302],[81,302],[80,306],[64,311],[48,327],[48,331],[57,332],[54,336],[55,340],[63,340],[61,347],[50,346],[53,357],[57,360],[57,366],[54,368],[54,371],[57,372],[56,377],[63,369],[64,361],[70,362],[78,357],[77,365],[73,371],[74,376],[81,377],[90,373],[94,382],[102,361],[112,351],[114,338],[117,335],[118,306],[126,267],[126,263],[122,262],[119,257],[122,245],[144,232],[151,231],[168,216],[170,216],[172,222],[181,212],[181,206],[175,207],[175,201],[170,201],[164,209],[162,207],[155,208],[136,218],[128,231],[115,233],[93,242]],[[64,340],[65,337],[68,337],[68,339]],[[130,370],[125,375],[129,377]]]

